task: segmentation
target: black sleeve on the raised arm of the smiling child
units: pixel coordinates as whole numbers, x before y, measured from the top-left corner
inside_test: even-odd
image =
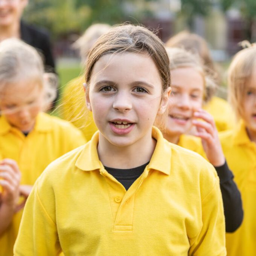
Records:
[[[244,212],[242,209],[241,194],[233,181],[233,174],[227,165],[227,162],[222,166],[215,166],[219,176],[221,194],[224,206],[224,215],[226,221],[226,232],[232,233],[241,225]]]

